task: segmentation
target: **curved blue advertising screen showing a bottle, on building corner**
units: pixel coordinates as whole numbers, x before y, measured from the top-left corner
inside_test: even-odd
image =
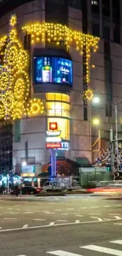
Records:
[[[72,86],[72,61],[57,57],[34,58],[35,83],[64,83]]]

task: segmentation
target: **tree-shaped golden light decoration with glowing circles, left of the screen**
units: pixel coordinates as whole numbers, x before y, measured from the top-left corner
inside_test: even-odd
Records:
[[[0,69],[0,119],[15,120],[28,115],[43,114],[44,102],[30,100],[28,78],[28,53],[17,39],[17,16],[9,21],[9,35],[0,40],[0,55],[3,55]],[[6,49],[2,51],[6,44]],[[36,103],[36,111],[34,105]]]

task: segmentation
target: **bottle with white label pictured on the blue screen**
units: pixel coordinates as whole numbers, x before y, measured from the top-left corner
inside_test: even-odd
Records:
[[[42,69],[43,83],[52,82],[52,67],[50,66],[50,59],[44,58],[44,66]]]

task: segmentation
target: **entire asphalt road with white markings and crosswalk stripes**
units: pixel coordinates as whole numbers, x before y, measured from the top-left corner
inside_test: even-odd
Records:
[[[0,214],[2,256],[122,256],[120,200],[0,199]]]

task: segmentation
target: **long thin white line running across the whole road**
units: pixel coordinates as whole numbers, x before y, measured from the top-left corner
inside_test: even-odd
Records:
[[[122,220],[122,218],[121,218]],[[103,223],[103,222],[111,222],[111,221],[118,221],[118,220],[102,220],[102,221],[80,221],[79,224],[91,224],[91,223]],[[65,225],[75,225],[76,222],[68,222],[68,223],[60,223],[60,224],[54,224],[53,227],[57,226],[65,226]],[[2,229],[0,232],[13,232],[13,231],[20,231],[24,229],[38,229],[38,228],[50,228],[50,224],[45,224],[45,225],[40,225],[40,226],[33,226],[33,227],[28,227],[28,228],[9,228],[9,229]]]

